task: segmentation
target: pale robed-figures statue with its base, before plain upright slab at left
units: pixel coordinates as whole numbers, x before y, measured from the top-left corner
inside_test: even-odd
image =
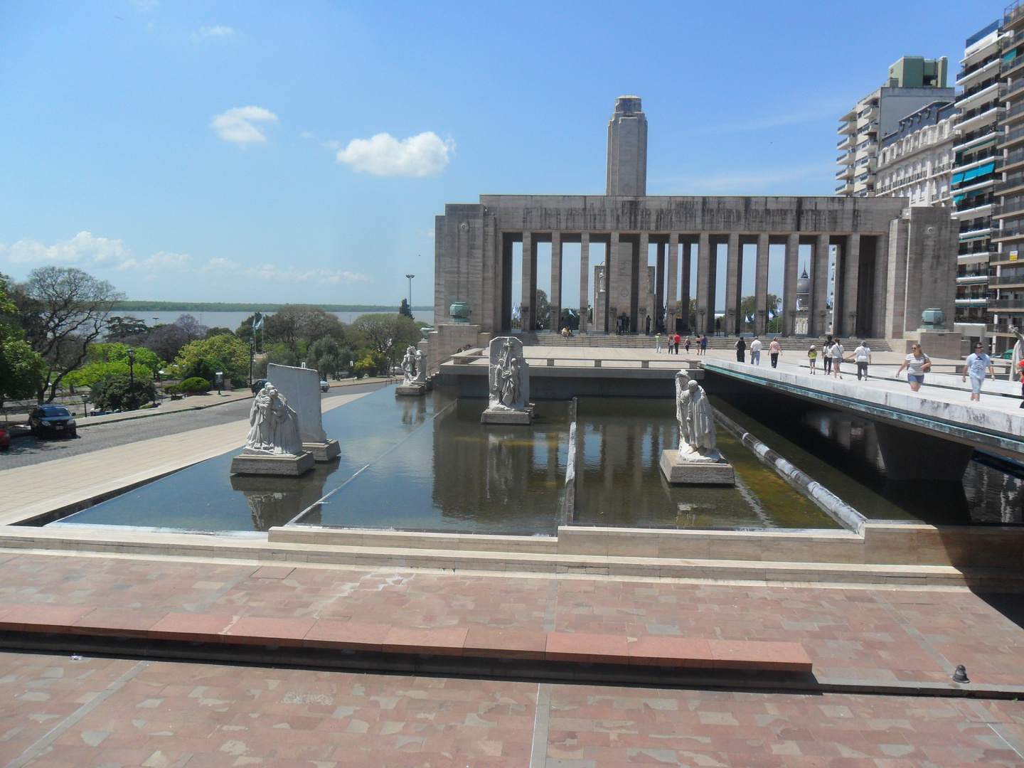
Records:
[[[267,382],[253,397],[249,433],[241,456],[231,460],[234,474],[299,475],[313,465],[302,447],[299,420],[288,398]]]

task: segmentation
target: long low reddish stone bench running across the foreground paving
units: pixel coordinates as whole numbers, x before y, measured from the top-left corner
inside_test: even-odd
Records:
[[[479,626],[418,628],[338,618],[238,616],[34,603],[0,603],[0,632],[568,664],[811,671],[811,659],[800,643],[663,636],[629,638]]]

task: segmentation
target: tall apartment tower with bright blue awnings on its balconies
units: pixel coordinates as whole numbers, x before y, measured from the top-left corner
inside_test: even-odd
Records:
[[[986,324],[989,259],[992,245],[992,203],[996,178],[999,125],[1004,114],[1001,93],[1000,22],[979,30],[965,43],[963,69],[956,85],[961,110],[953,146],[953,216],[959,222],[956,279],[956,321]],[[971,333],[983,335],[981,331]]]

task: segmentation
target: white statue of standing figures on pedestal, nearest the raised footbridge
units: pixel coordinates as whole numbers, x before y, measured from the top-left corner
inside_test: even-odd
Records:
[[[659,466],[671,483],[731,485],[732,465],[718,451],[715,410],[696,379],[685,371],[676,374],[676,421],[679,446],[663,451]]]

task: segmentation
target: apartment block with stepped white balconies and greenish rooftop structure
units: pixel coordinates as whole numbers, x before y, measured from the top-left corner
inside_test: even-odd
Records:
[[[886,84],[859,99],[840,118],[837,158],[840,184],[836,194],[874,196],[882,137],[899,126],[907,115],[933,101],[952,101],[955,89],[946,87],[948,62],[941,58],[903,56],[889,68]]]

